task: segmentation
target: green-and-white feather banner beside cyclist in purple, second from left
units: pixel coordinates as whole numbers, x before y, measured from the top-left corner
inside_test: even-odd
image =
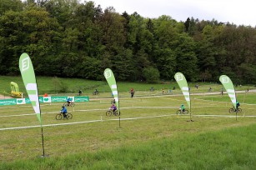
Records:
[[[117,86],[117,82],[116,82],[116,79],[115,79],[115,77],[113,75],[112,70],[109,69],[109,68],[106,68],[105,71],[104,71],[104,77],[106,78],[106,80],[108,82],[108,85],[111,88],[111,91],[113,93],[113,97],[115,99],[115,102],[117,104],[118,110],[120,112],[119,100],[118,100],[118,86]]]

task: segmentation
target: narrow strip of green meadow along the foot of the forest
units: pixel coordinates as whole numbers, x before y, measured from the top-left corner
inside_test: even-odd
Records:
[[[19,87],[19,91],[24,93],[25,97],[28,97],[26,89],[23,85],[23,79],[21,76],[0,76],[0,94],[8,96],[11,93],[10,82],[16,82]],[[79,78],[62,78],[62,77],[37,77],[38,93],[43,95],[45,92],[52,95],[59,94],[73,94],[78,95],[78,91],[81,89],[84,96],[92,97],[93,91],[98,89],[101,97],[111,97],[111,90],[108,86],[108,82],[103,81],[91,81]],[[121,97],[126,97],[131,88],[135,90],[136,95],[155,95],[162,94],[164,89],[165,94],[169,93],[181,93],[177,82],[162,81],[158,83],[146,83],[146,82],[118,82],[118,92]],[[198,89],[195,85],[199,85]],[[221,92],[222,85],[220,82],[188,82],[188,86],[191,87],[192,93],[208,92],[211,87],[211,92]],[[150,88],[153,87],[154,91],[150,92]],[[175,89],[173,90],[173,87]],[[247,89],[256,89],[254,85],[243,85],[235,87],[237,91],[245,91]],[[62,92],[62,91],[65,92]],[[171,92],[169,92],[171,90]]]

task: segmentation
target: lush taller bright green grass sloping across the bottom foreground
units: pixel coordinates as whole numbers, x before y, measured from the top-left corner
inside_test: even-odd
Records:
[[[0,163],[0,169],[255,169],[256,124],[133,147]]]

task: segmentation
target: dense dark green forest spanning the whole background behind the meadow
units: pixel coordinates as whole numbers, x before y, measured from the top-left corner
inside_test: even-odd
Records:
[[[256,83],[256,28],[215,19],[185,22],[171,16],[117,13],[93,1],[1,0],[0,75],[20,75],[27,52],[38,76],[118,81]],[[216,13],[217,15],[217,13]]]

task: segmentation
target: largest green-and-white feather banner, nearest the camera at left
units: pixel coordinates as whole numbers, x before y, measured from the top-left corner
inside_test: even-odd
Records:
[[[35,72],[33,70],[33,64],[27,53],[23,53],[19,58],[19,69],[23,77],[24,86],[28,92],[28,97],[38,120],[42,125],[40,103],[38,99],[38,85],[36,82]]]

